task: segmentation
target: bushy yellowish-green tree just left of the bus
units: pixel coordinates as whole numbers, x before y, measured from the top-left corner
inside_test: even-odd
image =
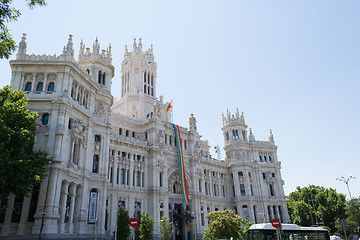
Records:
[[[252,225],[252,222],[235,215],[232,210],[211,212],[206,217],[210,219],[210,225],[205,229],[204,240],[230,239],[231,237],[234,240],[243,239]]]

